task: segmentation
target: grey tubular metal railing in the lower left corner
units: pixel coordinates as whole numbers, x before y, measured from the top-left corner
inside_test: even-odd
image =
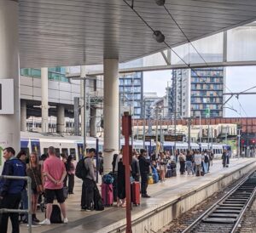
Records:
[[[0,213],[28,213],[28,232],[32,233],[32,188],[31,188],[31,178],[28,176],[11,176],[11,175],[0,175],[0,179],[25,179],[27,180],[27,198],[28,198],[28,209],[10,209],[10,208],[0,208]]]

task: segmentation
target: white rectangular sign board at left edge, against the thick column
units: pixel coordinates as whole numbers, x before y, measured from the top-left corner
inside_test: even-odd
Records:
[[[14,80],[0,79],[0,114],[14,114]]]

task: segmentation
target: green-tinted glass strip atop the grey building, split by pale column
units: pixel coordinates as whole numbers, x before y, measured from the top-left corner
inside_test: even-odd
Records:
[[[41,69],[33,69],[33,68],[20,69],[20,75],[26,76],[26,77],[41,78]],[[48,79],[59,81],[59,82],[68,82],[68,79],[66,77],[66,68],[65,67],[48,68]]]

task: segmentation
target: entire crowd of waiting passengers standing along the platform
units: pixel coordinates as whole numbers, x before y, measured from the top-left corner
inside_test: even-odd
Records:
[[[103,175],[104,159],[102,152],[99,153],[98,167],[94,162],[96,150],[89,149],[84,153],[83,167],[84,176],[81,193],[81,210],[93,211],[95,194],[98,192],[96,185],[96,173]],[[50,217],[53,208],[53,202],[56,199],[60,205],[63,216],[62,222],[67,224],[67,211],[65,200],[65,188],[69,195],[73,194],[74,177],[77,175],[73,156],[56,156],[55,148],[50,146],[47,155],[40,156],[32,152],[28,157],[26,151],[20,151],[15,156],[15,150],[12,147],[3,150],[5,159],[2,175],[29,176],[32,180],[32,223],[50,224]],[[155,153],[148,156],[144,149],[132,152],[131,160],[131,182],[140,182],[140,191],[143,198],[149,198],[148,183],[153,175],[154,183],[164,182],[166,178],[176,176],[177,163],[179,163],[180,174],[187,173],[189,176],[201,176],[209,173],[213,160],[212,151],[177,151],[171,155],[169,151],[161,151],[158,155]],[[229,153],[223,153],[223,165],[227,167]],[[125,207],[125,166],[123,164],[122,151],[113,155],[113,169],[110,175],[113,177],[113,200],[117,202],[118,207]],[[77,175],[78,176],[78,175]],[[40,222],[36,212],[38,208],[38,198],[42,198],[46,204],[45,219]],[[18,209],[20,207],[27,209],[27,184],[26,179],[0,179],[0,208]],[[12,222],[13,232],[19,233],[19,213],[0,214],[0,233],[6,233],[8,228],[8,219]],[[27,214],[24,215],[23,222],[27,223]]]

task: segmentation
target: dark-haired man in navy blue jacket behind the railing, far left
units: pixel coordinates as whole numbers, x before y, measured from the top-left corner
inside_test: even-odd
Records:
[[[26,165],[15,157],[15,150],[7,147],[3,150],[5,159],[2,175],[26,176]],[[18,209],[21,191],[26,186],[24,179],[0,179],[0,208]],[[19,213],[0,214],[0,233],[7,233],[8,219],[12,222],[12,233],[19,233]]]

